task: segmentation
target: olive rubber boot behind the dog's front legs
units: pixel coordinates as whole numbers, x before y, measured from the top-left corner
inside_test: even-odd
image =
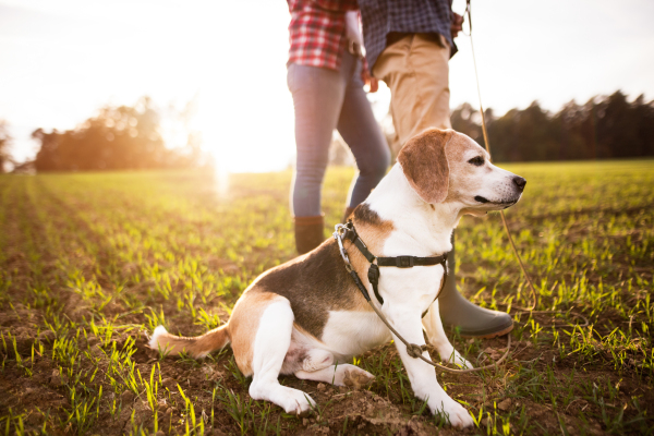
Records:
[[[461,336],[475,338],[495,338],[513,329],[513,319],[505,312],[489,311],[465,300],[457,291],[455,276],[455,233],[452,251],[448,256],[448,274],[445,288],[438,296],[440,319],[445,328],[459,329]]]

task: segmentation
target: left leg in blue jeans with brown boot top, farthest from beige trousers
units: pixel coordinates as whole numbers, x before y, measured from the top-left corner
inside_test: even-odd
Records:
[[[298,150],[291,207],[295,221],[295,246],[300,254],[315,249],[325,240],[320,190],[346,84],[338,71],[289,65],[288,86],[295,109]]]

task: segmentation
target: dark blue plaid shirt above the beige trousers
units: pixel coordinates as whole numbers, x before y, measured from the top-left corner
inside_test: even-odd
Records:
[[[452,48],[452,55],[456,51],[450,34],[451,0],[359,0],[359,8],[371,70],[386,48],[386,36],[391,32],[440,34]]]

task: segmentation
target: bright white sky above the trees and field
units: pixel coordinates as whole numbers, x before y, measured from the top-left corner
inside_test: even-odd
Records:
[[[556,111],[617,89],[654,98],[653,1],[472,3],[483,104],[497,114],[534,100]],[[102,106],[148,95],[161,107],[194,100],[193,128],[226,171],[286,168],[289,20],[282,0],[0,0],[0,119],[11,152],[32,158],[34,130],[73,129]],[[450,106],[476,106],[470,38],[457,45]],[[382,119],[388,88],[368,98]]]

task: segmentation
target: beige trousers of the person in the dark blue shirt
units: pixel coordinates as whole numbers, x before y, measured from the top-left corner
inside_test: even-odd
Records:
[[[439,35],[440,36],[440,35]],[[427,128],[450,129],[450,48],[421,36],[409,35],[386,47],[373,75],[390,88],[390,113],[396,130],[393,154]],[[397,149],[396,149],[397,148]]]

